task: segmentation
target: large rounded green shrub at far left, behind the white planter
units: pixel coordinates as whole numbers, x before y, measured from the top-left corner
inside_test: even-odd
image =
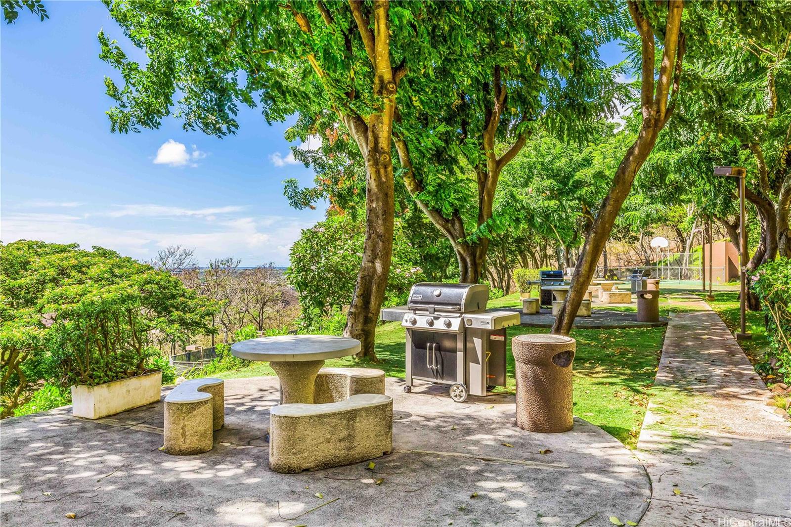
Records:
[[[117,252],[16,241],[0,253],[3,417],[42,381],[66,388],[145,373],[161,365],[157,346],[213,332],[214,301]]]

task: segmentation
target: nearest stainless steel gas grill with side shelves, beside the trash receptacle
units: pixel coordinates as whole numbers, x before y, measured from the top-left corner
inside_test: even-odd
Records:
[[[514,311],[486,310],[489,287],[417,283],[406,306],[382,309],[382,320],[407,329],[407,385],[414,379],[451,385],[452,400],[485,396],[505,386],[505,328],[520,323]]]

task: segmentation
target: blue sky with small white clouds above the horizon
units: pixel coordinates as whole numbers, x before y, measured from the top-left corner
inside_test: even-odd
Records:
[[[50,19],[21,13],[0,28],[0,240],[101,245],[146,260],[168,245],[195,248],[202,264],[288,264],[301,229],[323,207],[294,210],[282,181],[311,184],[283,138],[255,109],[224,139],[185,132],[176,119],[155,131],[111,134],[104,94],[111,68],[97,32],[124,43],[100,2],[45,2]],[[127,52],[131,45],[124,45]],[[602,49],[607,63],[619,47]]]

